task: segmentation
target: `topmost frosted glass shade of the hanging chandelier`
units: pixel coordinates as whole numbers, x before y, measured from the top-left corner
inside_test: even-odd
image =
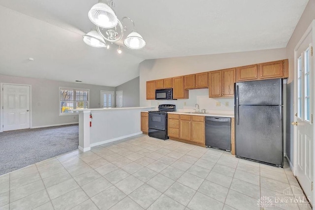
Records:
[[[92,6],[88,16],[96,26],[106,29],[113,28],[118,23],[118,18],[113,9],[103,2],[96,3]]]

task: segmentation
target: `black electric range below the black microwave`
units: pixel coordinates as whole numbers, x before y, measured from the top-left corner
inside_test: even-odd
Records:
[[[176,111],[176,105],[158,105],[158,111],[149,111],[149,136],[167,140],[167,112]]]

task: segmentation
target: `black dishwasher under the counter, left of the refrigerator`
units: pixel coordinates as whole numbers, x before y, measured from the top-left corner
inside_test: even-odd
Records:
[[[206,146],[231,151],[231,118],[206,116]]]

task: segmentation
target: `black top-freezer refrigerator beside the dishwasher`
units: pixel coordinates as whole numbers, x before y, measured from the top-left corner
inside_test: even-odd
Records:
[[[235,155],[283,166],[283,79],[235,83]]]

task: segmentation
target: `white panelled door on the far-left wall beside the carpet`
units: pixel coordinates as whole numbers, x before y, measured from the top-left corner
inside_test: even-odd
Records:
[[[30,128],[30,86],[3,84],[3,131]]]

